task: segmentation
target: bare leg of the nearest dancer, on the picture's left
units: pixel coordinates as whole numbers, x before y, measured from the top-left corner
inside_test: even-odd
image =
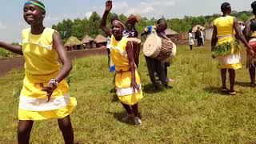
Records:
[[[18,143],[29,144],[34,121],[18,121]]]

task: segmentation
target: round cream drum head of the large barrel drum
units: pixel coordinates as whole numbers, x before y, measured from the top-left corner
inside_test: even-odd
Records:
[[[143,54],[146,57],[156,58],[160,53],[162,46],[161,38],[155,34],[151,34],[143,45]]]

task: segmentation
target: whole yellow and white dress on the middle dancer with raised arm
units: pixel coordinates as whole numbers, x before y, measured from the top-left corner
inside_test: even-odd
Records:
[[[134,90],[130,87],[131,71],[126,53],[127,42],[128,38],[123,37],[122,40],[117,41],[112,35],[110,43],[110,54],[116,70],[115,86],[117,90],[118,99],[120,100],[120,102],[126,105],[133,106],[143,98],[143,95],[142,90],[136,90],[134,92]],[[138,86],[141,87],[141,82],[137,70],[135,70],[135,76]]]

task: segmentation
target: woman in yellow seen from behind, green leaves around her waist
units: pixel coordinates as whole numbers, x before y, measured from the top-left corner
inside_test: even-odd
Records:
[[[235,71],[242,67],[240,47],[235,35],[246,45],[248,54],[253,54],[253,50],[246,42],[242,31],[238,26],[237,18],[231,17],[231,6],[224,2],[221,6],[222,17],[214,20],[214,33],[211,42],[213,58],[219,62],[222,74],[222,91],[229,94],[236,94],[234,90]],[[216,45],[217,43],[217,45]],[[226,88],[226,70],[230,74],[230,90]]]

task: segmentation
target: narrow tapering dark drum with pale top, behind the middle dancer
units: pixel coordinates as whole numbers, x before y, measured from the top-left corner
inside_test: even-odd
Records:
[[[136,66],[138,67],[138,63],[139,63],[139,53],[141,50],[141,40],[138,38],[128,38],[128,40],[130,42],[133,43],[133,47],[134,47],[134,62],[136,64]]]

